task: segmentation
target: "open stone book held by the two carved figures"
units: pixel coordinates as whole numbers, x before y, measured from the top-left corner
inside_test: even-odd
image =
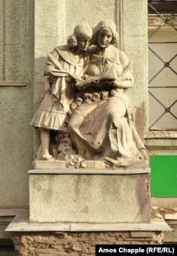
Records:
[[[96,76],[89,76],[88,78],[77,81],[76,88],[78,90],[86,90],[87,88],[93,87],[98,89],[105,89],[111,87],[108,82],[114,81],[117,79],[117,75],[114,70],[100,73]],[[107,83],[106,83],[107,82]]]

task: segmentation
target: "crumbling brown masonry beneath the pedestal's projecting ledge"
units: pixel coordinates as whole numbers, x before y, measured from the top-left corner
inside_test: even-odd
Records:
[[[131,232],[13,233],[13,243],[21,256],[91,256],[95,255],[96,244],[161,245],[163,240],[161,231],[139,232],[136,236]]]

